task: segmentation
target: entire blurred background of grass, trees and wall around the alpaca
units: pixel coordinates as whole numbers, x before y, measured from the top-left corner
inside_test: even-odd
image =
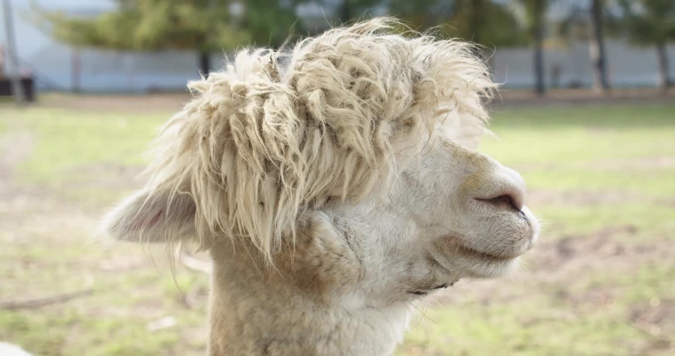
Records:
[[[88,242],[185,86],[359,18],[483,46],[481,147],[544,220],[522,272],[421,307],[397,355],[675,353],[675,1],[0,0],[0,341],[202,355],[209,268]]]

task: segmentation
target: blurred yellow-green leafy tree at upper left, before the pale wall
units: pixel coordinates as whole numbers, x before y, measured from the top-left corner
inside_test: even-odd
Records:
[[[117,0],[116,11],[95,18],[35,8],[38,21],[64,43],[125,50],[195,49],[208,73],[213,51],[248,41],[232,22],[231,0]]]

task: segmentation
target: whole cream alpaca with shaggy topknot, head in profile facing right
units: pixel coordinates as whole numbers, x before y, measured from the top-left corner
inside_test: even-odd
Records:
[[[189,84],[118,240],[213,259],[209,355],[391,355],[414,305],[537,240],[518,173],[475,151],[495,84],[471,45],[375,18],[242,51]]]

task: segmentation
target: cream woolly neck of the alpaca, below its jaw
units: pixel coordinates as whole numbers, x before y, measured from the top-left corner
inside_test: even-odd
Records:
[[[402,340],[404,303],[325,303],[246,251],[222,244],[211,255],[209,355],[390,355]]]

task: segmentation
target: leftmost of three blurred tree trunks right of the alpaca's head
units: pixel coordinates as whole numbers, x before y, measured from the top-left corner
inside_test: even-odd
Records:
[[[544,73],[544,25],[546,10],[549,5],[548,0],[520,0],[525,8],[525,21],[527,33],[533,42],[534,62],[535,62],[535,91],[537,95],[546,93],[546,82]]]

